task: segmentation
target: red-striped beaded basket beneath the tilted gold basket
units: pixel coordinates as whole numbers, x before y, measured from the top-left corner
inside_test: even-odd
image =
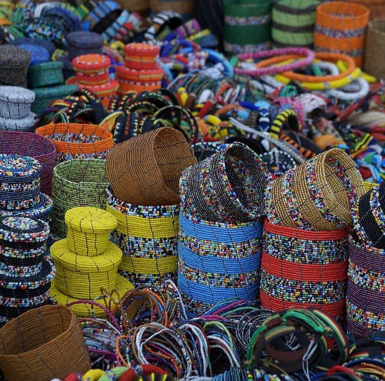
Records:
[[[264,222],[260,298],[263,308],[316,307],[345,314],[349,229],[306,231]]]

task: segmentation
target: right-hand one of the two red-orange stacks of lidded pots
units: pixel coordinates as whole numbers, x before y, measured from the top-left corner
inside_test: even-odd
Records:
[[[132,43],[125,46],[124,53],[125,66],[119,66],[115,71],[119,93],[151,91],[161,87],[163,69],[157,62],[158,46]]]

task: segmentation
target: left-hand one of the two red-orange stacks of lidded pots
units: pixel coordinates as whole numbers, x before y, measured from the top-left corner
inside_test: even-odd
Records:
[[[88,89],[100,98],[107,107],[109,100],[118,90],[119,83],[109,77],[111,60],[104,54],[84,54],[72,60],[75,77],[67,84],[78,84],[80,89]]]

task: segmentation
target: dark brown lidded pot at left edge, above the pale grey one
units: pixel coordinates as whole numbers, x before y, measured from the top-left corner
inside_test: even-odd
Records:
[[[13,86],[27,85],[31,54],[17,46],[0,46],[0,83]]]

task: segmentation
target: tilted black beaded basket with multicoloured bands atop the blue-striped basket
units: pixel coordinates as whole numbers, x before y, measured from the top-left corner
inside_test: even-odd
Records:
[[[246,145],[235,142],[188,167],[181,180],[181,202],[188,214],[206,221],[253,221],[263,214],[271,174]]]

